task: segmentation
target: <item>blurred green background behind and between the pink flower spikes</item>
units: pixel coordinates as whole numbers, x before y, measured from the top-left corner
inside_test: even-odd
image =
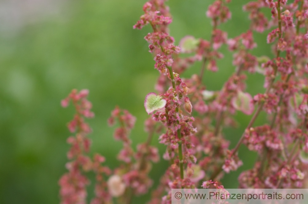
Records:
[[[143,106],[144,97],[155,91],[158,72],[153,69],[153,57],[143,39],[151,31],[150,27],[132,29],[143,14],[145,0],[55,1],[53,12],[48,12],[51,10],[48,3],[53,1],[45,1],[46,4],[39,5],[27,1],[29,8],[34,6],[39,12],[31,10],[20,21],[10,12],[1,15],[6,17],[1,19],[6,23],[0,28],[1,204],[59,203],[58,180],[66,172],[64,165],[69,148],[66,139],[70,133],[66,124],[74,113],[72,107],[61,108],[60,100],[73,88],[90,90],[89,100],[95,112],[95,118],[88,120],[93,129],[89,135],[93,142],[91,151],[104,155],[111,168],[117,166],[115,156],[122,147],[120,142],[114,141],[114,128],[109,128],[106,122],[115,105],[128,109],[137,117],[131,134],[133,146],[147,137],[143,130],[148,117]],[[176,44],[188,34],[209,39],[212,26],[205,11],[212,2],[167,2],[173,16],[170,33]],[[233,0],[229,4],[232,19],[219,26],[228,31],[229,38],[249,27],[248,14],[242,11],[245,2]],[[3,2],[0,8],[6,10]],[[266,44],[266,32],[254,33],[254,37],[258,47],[252,53],[272,56]],[[226,46],[221,52],[225,58],[218,61],[219,71],[205,73],[204,83],[209,90],[219,90],[234,71],[232,53]],[[200,68],[201,63],[196,63],[182,77],[199,73]],[[248,75],[248,92],[252,95],[263,92],[263,82],[259,74]],[[224,130],[231,147],[237,143],[250,117],[237,113],[239,128]],[[264,119],[265,114],[261,114],[256,124]],[[157,138],[156,135],[153,144],[162,154],[165,147],[158,144]],[[245,147],[241,147],[239,156],[244,165],[225,175],[226,188],[236,188],[237,176],[242,170],[251,168],[256,158]],[[154,186],[166,165],[163,159],[160,164],[153,165]],[[138,203],[148,198],[149,194],[141,196]]]

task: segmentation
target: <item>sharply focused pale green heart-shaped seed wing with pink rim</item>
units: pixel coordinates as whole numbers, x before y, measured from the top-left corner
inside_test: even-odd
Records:
[[[156,110],[164,108],[166,105],[166,102],[167,101],[162,99],[161,96],[157,96],[156,93],[151,92],[151,93],[148,93],[147,96],[145,96],[144,108],[148,114],[151,114],[152,112]]]

